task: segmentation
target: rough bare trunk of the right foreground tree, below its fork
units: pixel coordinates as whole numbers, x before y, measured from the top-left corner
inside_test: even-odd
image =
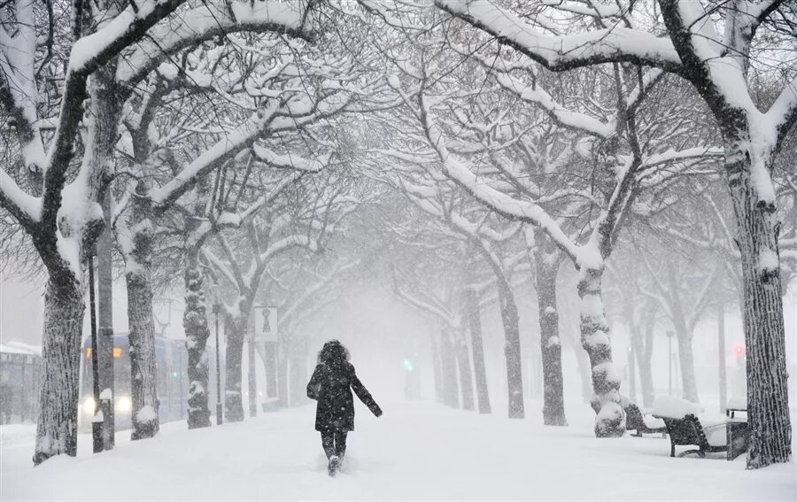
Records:
[[[792,456],[782,283],[775,207],[760,202],[751,176],[749,134],[726,146],[726,171],[739,228],[747,348],[747,468],[788,462]],[[737,148],[733,148],[736,146]],[[770,156],[772,154],[770,153]],[[772,158],[763,159],[770,169]],[[759,159],[759,161],[762,161]]]

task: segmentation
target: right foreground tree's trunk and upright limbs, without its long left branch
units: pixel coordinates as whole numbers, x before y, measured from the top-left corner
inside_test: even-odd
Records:
[[[696,50],[690,31],[693,23],[683,18],[680,4],[663,1],[660,4],[670,40],[684,66],[681,74],[706,100],[723,135],[725,174],[737,223],[744,289],[742,311],[751,434],[747,468],[788,462],[792,457],[792,424],[778,251],[780,223],[771,173],[780,143],[795,123],[797,109],[793,102],[789,103],[793,101],[793,89],[788,86],[793,84],[786,84],[780,116],[776,113],[774,117],[766,117],[758,110],[746,85],[755,30],[779,3],[764,6],[761,18],[750,16],[747,9],[752,5],[747,3],[734,4],[734,8],[727,10],[726,23],[732,23],[732,29],[726,29],[728,36],[723,43],[729,52],[726,58],[730,60],[722,63],[723,70],[719,72],[712,66],[714,60],[704,57],[705,48]],[[728,81],[741,84],[732,90],[732,95]]]

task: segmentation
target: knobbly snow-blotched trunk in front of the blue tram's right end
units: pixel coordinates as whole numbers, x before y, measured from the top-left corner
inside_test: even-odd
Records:
[[[207,326],[205,290],[198,252],[198,246],[192,245],[185,251],[185,313],[182,315],[182,327],[185,329],[185,348],[189,354],[189,429],[209,427],[211,424],[207,405],[208,367],[205,350],[210,329]]]

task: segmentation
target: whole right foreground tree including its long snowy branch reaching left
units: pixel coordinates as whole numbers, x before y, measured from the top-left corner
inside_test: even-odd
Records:
[[[716,119],[724,146],[725,172],[737,221],[744,282],[748,409],[752,444],[747,467],[791,458],[791,423],[785,372],[779,224],[772,169],[797,121],[797,78],[787,67],[779,96],[756,103],[751,95],[751,56],[793,44],[793,5],[779,0],[739,0],[709,6],[690,0],[660,0],[645,16],[639,4],[540,3],[568,27],[546,29],[550,16],[523,19],[483,0],[436,0],[499,43],[554,71],[631,62],[676,73],[693,84]],[[635,7],[639,7],[635,9]],[[579,20],[587,19],[589,23]],[[592,29],[594,27],[594,29]],[[660,35],[661,34],[661,35]],[[771,42],[770,42],[771,43]],[[780,49],[775,47],[775,50]],[[777,398],[770,398],[777,394]]]

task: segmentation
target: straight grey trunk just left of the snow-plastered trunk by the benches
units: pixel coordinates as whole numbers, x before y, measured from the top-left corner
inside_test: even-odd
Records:
[[[538,241],[539,243],[539,241]],[[550,255],[547,255],[550,257]],[[568,425],[564,413],[564,390],[561,376],[561,338],[559,312],[556,309],[556,275],[558,261],[551,263],[546,255],[535,256],[537,270],[537,302],[539,309],[539,345],[543,369],[543,423]]]

